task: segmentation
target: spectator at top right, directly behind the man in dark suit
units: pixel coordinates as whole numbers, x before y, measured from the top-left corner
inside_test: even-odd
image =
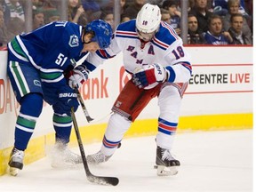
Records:
[[[240,1],[239,0],[228,0],[228,13],[223,19],[223,28],[228,31],[230,28],[231,14],[239,13]],[[245,36],[252,36],[251,28],[249,28],[247,20],[243,19],[243,33]]]

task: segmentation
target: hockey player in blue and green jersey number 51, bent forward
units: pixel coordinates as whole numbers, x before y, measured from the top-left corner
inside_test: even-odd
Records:
[[[52,105],[56,148],[61,151],[62,160],[82,163],[81,156],[67,148],[72,126],[70,109],[76,110],[79,105],[71,87],[83,84],[90,70],[84,65],[76,67],[76,61],[87,52],[107,48],[111,36],[112,29],[103,20],[93,20],[84,27],[56,21],[15,36],[8,44],[7,74],[20,103],[9,161],[12,175],[23,167],[24,150],[42,112],[43,100]]]

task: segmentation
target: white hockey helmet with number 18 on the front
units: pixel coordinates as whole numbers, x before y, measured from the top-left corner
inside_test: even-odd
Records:
[[[158,30],[161,12],[157,5],[144,4],[136,18],[136,28],[142,33],[153,33]]]

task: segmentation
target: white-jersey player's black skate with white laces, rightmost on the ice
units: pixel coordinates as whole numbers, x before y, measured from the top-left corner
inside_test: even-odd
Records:
[[[176,175],[178,173],[177,166],[180,161],[173,158],[170,150],[165,148],[156,148],[156,166],[158,176]]]

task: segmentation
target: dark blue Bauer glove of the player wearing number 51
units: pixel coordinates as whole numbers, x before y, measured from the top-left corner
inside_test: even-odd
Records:
[[[71,89],[68,85],[60,87],[59,93],[58,93],[59,100],[57,104],[55,105],[55,108],[60,114],[67,114],[70,116],[70,110],[72,107],[74,107],[74,110],[79,106],[77,95],[75,90]]]

